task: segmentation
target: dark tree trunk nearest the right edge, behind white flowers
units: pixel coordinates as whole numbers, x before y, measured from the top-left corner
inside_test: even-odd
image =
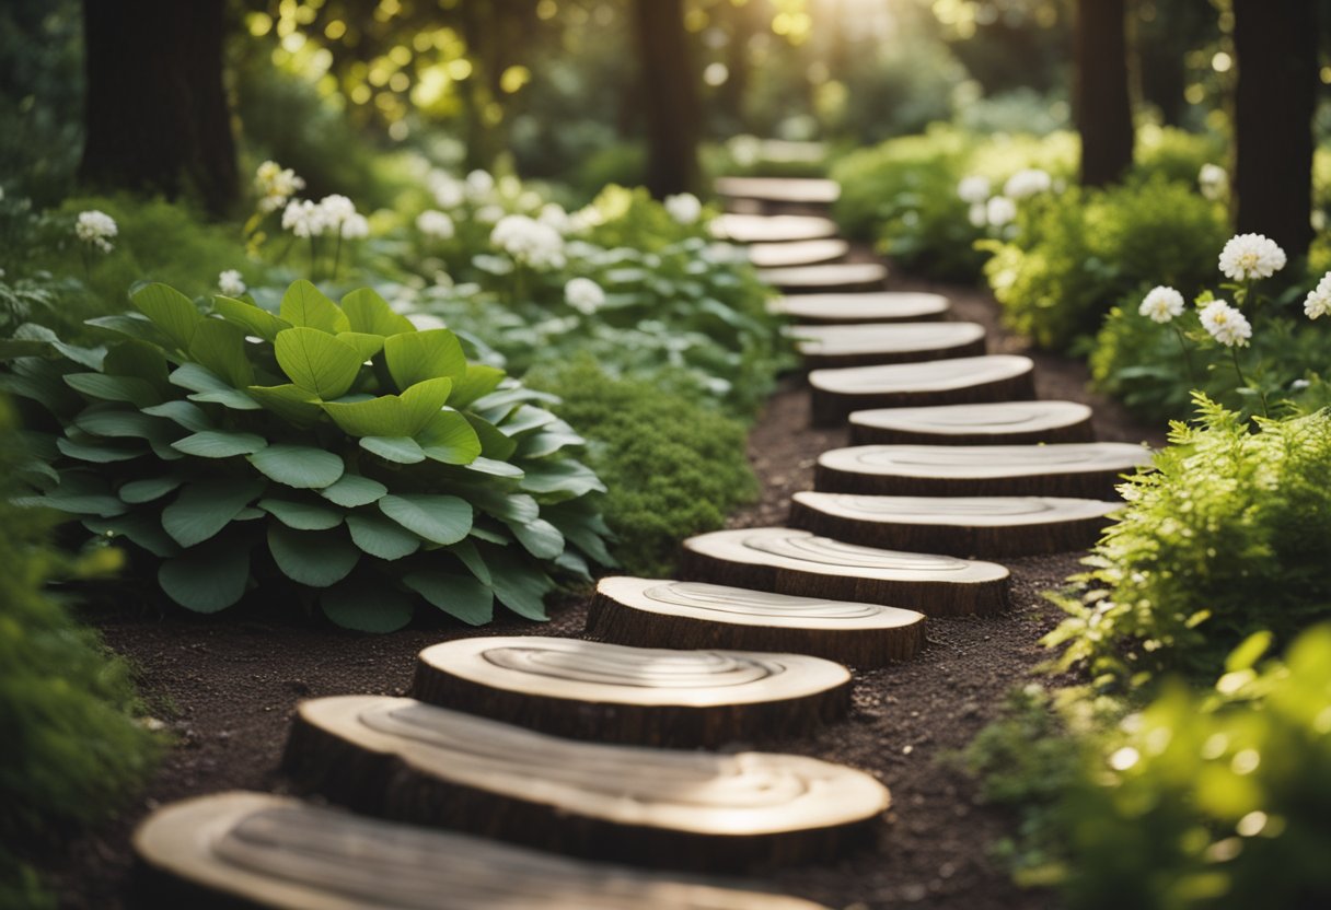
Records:
[[[1234,0],[1235,221],[1291,257],[1312,242],[1316,25],[1307,0]]]

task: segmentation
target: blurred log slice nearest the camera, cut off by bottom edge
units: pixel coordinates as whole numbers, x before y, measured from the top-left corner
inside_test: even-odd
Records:
[[[819,910],[268,793],[173,802],[134,832],[154,906],[281,910]]]

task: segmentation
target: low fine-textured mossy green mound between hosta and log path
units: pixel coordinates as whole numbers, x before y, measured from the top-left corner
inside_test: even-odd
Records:
[[[615,379],[584,357],[528,380],[559,395],[556,412],[587,435],[587,462],[610,488],[606,522],[626,571],[667,575],[680,540],[721,527],[757,496],[744,424],[663,391],[668,378]]]

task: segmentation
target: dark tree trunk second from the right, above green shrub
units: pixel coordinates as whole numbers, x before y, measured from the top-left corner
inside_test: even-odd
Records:
[[[1125,0],[1078,0],[1077,129],[1082,185],[1106,186],[1133,164],[1133,104],[1127,90]]]

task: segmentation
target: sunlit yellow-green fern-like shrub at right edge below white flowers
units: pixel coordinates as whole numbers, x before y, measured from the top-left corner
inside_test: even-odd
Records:
[[[1199,426],[1173,424],[1155,471],[1059,600],[1046,639],[1062,665],[1126,681],[1210,673],[1246,636],[1288,640],[1331,615],[1331,411],[1259,420],[1198,396]]]

